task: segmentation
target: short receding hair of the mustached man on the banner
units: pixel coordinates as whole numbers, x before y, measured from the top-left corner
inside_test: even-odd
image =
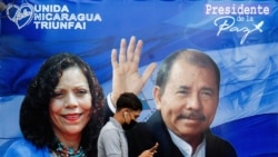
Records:
[[[173,53],[170,53],[160,65],[157,73],[157,79],[156,79],[156,86],[161,88],[161,91],[163,94],[165,91],[165,86],[168,81],[168,78],[171,72],[172,65],[175,61],[183,59],[188,63],[191,63],[193,66],[198,67],[212,67],[215,70],[215,76],[218,85],[218,89],[220,86],[220,70],[217,66],[217,63],[206,53],[193,50],[193,49],[182,49],[178,50]]]

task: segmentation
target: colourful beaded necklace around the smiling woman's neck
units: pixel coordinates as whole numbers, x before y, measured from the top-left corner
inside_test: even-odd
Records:
[[[78,150],[75,151],[73,148],[67,148],[60,141],[57,143],[53,153],[57,157],[86,157],[81,146],[79,147]]]

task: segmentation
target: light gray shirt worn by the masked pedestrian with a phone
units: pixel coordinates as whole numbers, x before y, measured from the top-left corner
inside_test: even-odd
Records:
[[[128,143],[121,125],[112,117],[101,128],[98,157],[128,157]]]

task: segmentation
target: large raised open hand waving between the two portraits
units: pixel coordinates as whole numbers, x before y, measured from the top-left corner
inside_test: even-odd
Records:
[[[119,56],[117,56],[117,50],[112,49],[111,63],[113,75],[110,98],[113,106],[122,92],[133,92],[138,95],[155,71],[156,63],[152,62],[146,68],[142,75],[139,73],[138,67],[141,50],[142,40],[136,41],[136,37],[133,36],[130,38],[128,47],[126,39],[121,39]]]

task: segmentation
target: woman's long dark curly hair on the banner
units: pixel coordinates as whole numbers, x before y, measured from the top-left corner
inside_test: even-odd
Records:
[[[62,72],[79,67],[86,76],[91,94],[91,117],[82,130],[81,144],[87,156],[97,156],[97,140],[103,125],[105,97],[91,68],[78,56],[58,53],[49,58],[29,84],[20,108],[20,128],[24,138],[38,148],[52,148],[56,136],[50,122],[49,102]]]

